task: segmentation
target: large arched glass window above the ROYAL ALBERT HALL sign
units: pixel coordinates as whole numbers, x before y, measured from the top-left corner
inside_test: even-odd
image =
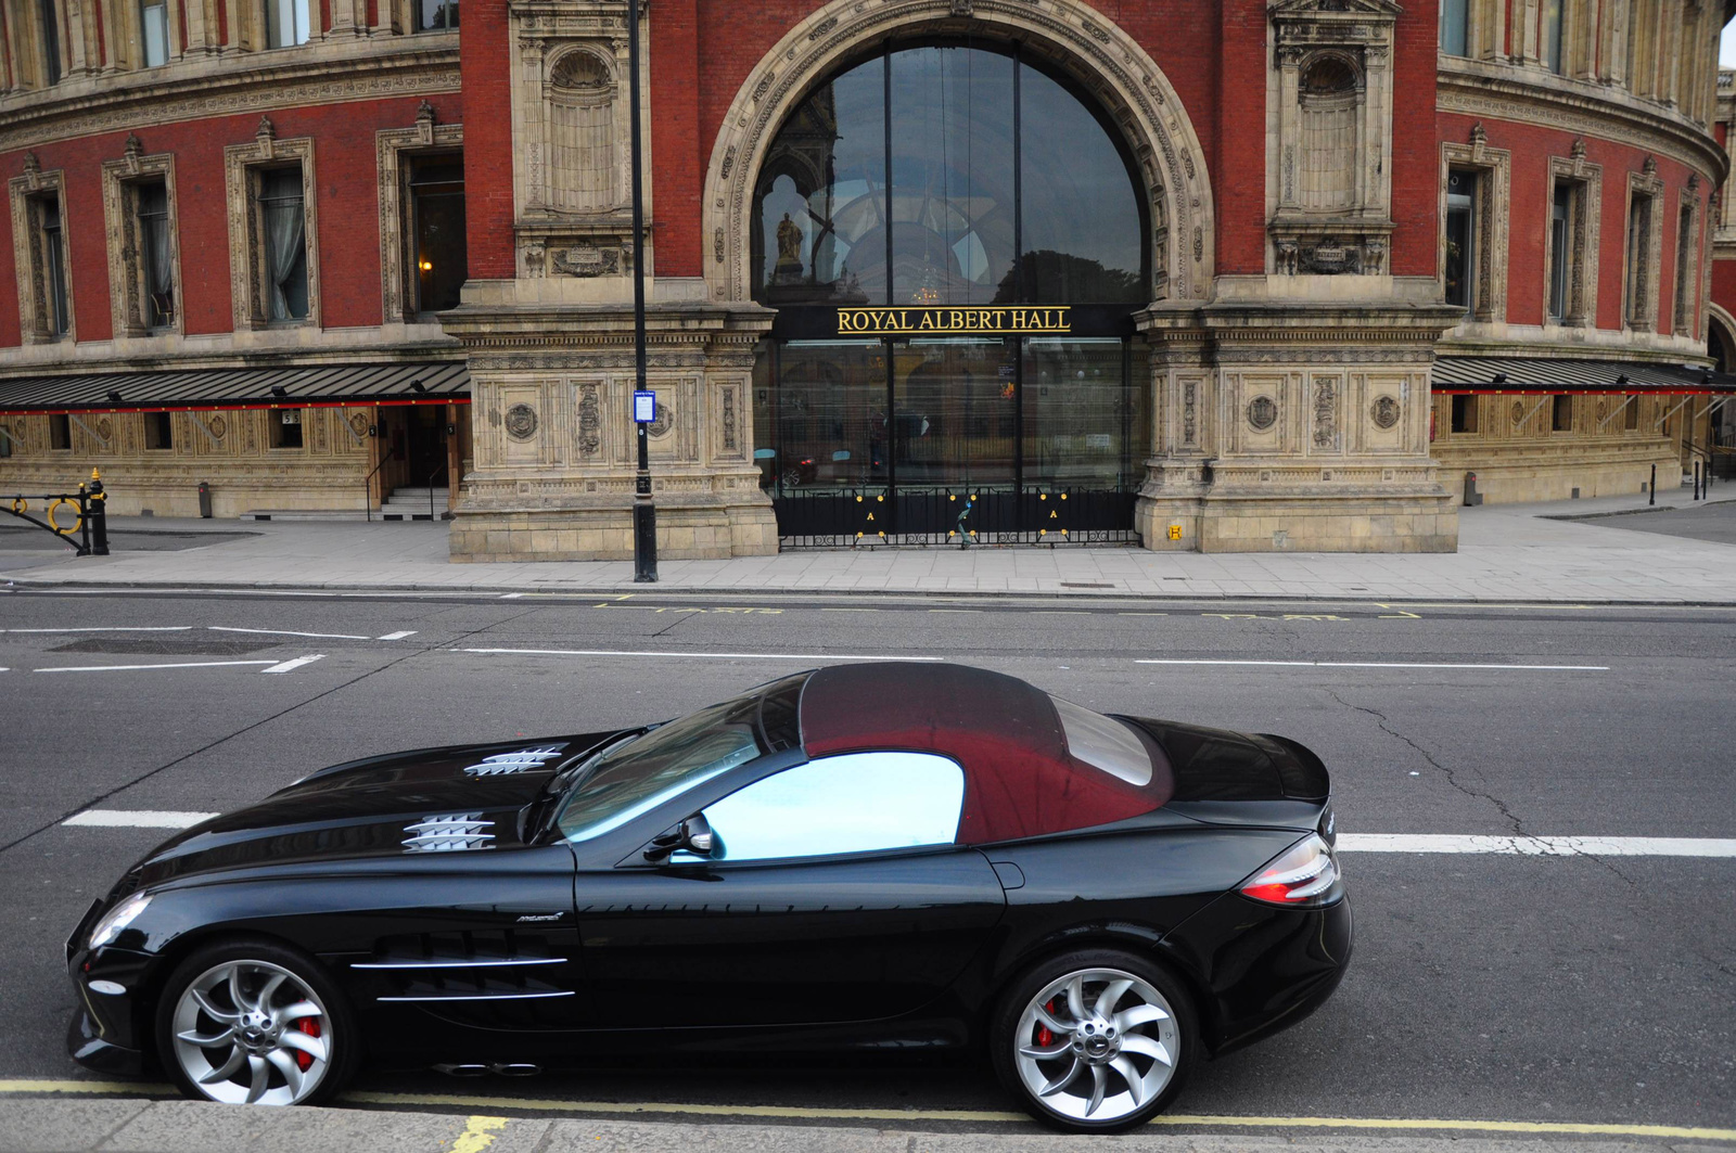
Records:
[[[1121,144],[1000,49],[891,49],[823,83],[773,141],[752,227],[776,307],[1149,300]]]

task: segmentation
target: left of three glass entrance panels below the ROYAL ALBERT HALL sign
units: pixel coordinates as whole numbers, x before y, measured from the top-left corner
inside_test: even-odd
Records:
[[[778,351],[776,438],[760,476],[778,491],[875,488],[887,481],[885,346],[793,340]]]

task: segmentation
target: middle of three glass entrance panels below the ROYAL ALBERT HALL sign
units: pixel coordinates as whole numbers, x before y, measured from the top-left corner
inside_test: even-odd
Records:
[[[911,340],[892,347],[901,491],[1012,484],[1019,405],[1012,340]],[[1120,340],[1111,340],[1120,347]]]

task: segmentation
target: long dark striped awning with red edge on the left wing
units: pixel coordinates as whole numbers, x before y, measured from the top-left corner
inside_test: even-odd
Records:
[[[111,372],[0,379],[0,413],[210,412],[339,405],[467,405],[464,361]]]

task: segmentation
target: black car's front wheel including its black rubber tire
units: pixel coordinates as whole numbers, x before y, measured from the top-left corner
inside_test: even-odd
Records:
[[[361,1033],[312,957],[276,941],[227,939],[200,946],[168,976],[156,1004],[156,1052],[196,1101],[319,1104],[354,1071]]]

